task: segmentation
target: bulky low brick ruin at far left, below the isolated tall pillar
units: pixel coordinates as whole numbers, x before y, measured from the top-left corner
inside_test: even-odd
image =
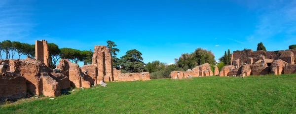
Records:
[[[33,58],[5,61],[9,68],[0,76],[0,101],[25,97],[27,91],[36,95],[59,96],[70,88],[70,80],[53,73],[43,62]]]

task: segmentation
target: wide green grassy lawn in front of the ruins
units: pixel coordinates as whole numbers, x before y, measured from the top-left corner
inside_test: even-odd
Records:
[[[109,82],[0,106],[0,114],[296,113],[296,74]]]

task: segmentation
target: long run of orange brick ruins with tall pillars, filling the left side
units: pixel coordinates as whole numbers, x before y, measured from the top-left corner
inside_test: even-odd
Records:
[[[55,97],[61,90],[71,87],[90,88],[101,81],[150,80],[148,72],[122,74],[112,68],[110,49],[106,46],[94,46],[91,65],[79,65],[68,59],[61,59],[53,72],[49,65],[49,53],[46,40],[36,41],[36,59],[0,60],[7,64],[1,69],[0,102],[26,97],[27,92],[35,95]]]

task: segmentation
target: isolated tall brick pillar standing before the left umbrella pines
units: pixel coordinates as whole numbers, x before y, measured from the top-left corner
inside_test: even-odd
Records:
[[[46,66],[49,66],[49,52],[46,40],[42,39],[35,41],[35,57],[36,60],[42,61]]]

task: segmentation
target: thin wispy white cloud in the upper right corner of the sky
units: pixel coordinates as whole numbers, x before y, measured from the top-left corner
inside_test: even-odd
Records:
[[[259,21],[253,34],[247,37],[249,42],[258,42],[273,38],[276,35],[284,39],[296,35],[296,1],[274,0],[269,5],[259,8]]]

